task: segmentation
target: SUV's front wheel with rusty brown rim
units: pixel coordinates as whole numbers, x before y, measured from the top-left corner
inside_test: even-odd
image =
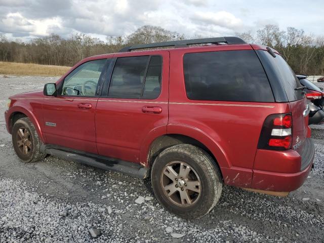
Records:
[[[46,153],[41,152],[43,143],[28,117],[20,118],[14,124],[12,142],[17,156],[25,163],[35,162],[46,156]]]

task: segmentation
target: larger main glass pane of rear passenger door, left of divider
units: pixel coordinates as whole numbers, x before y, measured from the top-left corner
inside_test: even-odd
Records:
[[[139,99],[149,56],[120,57],[112,71],[108,97]]]

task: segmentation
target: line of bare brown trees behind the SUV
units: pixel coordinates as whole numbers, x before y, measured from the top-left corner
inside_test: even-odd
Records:
[[[324,36],[305,34],[304,30],[288,27],[280,30],[276,25],[265,25],[252,32],[237,32],[236,36],[248,43],[273,47],[290,64],[296,73],[324,74]],[[107,36],[106,41],[84,33],[69,38],[57,34],[23,42],[9,41],[0,34],[0,61],[72,66],[85,57],[114,53],[128,45],[176,41],[188,37],[158,26],[145,25],[127,36]]]

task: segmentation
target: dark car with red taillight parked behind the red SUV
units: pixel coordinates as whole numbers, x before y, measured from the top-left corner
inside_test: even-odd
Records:
[[[309,119],[310,124],[324,123],[324,93],[321,88],[318,88],[307,79],[306,75],[296,75],[302,86],[305,87],[306,97],[309,100]]]

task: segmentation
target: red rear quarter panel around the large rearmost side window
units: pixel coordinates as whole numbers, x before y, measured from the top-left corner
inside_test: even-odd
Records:
[[[290,112],[290,107],[287,103],[189,100],[184,85],[184,54],[226,50],[252,50],[252,47],[224,45],[170,51],[168,133],[200,141],[214,154],[226,184],[250,187],[263,122],[269,114]]]

